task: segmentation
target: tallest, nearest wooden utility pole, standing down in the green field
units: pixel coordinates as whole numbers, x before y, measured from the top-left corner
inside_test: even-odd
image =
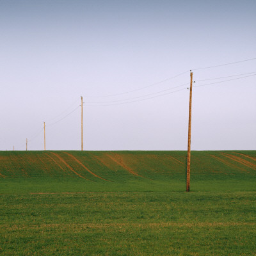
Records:
[[[189,192],[190,186],[190,145],[191,145],[191,105],[192,105],[192,84],[193,84],[193,72],[190,70],[190,93],[189,93],[189,117],[188,117],[188,159],[187,159],[187,189]]]

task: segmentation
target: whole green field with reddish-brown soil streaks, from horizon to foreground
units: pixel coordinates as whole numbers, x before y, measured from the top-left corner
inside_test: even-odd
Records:
[[[256,151],[0,152],[0,255],[256,255]]]

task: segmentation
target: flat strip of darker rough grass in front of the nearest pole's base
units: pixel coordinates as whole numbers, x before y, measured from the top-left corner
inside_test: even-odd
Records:
[[[2,255],[254,255],[255,193],[1,196]]]

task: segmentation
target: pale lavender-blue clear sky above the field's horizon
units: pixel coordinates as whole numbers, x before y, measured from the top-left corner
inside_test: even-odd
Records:
[[[255,150],[255,10],[0,0],[0,150],[81,150],[81,96],[84,150],[186,150],[189,70],[191,150]]]

